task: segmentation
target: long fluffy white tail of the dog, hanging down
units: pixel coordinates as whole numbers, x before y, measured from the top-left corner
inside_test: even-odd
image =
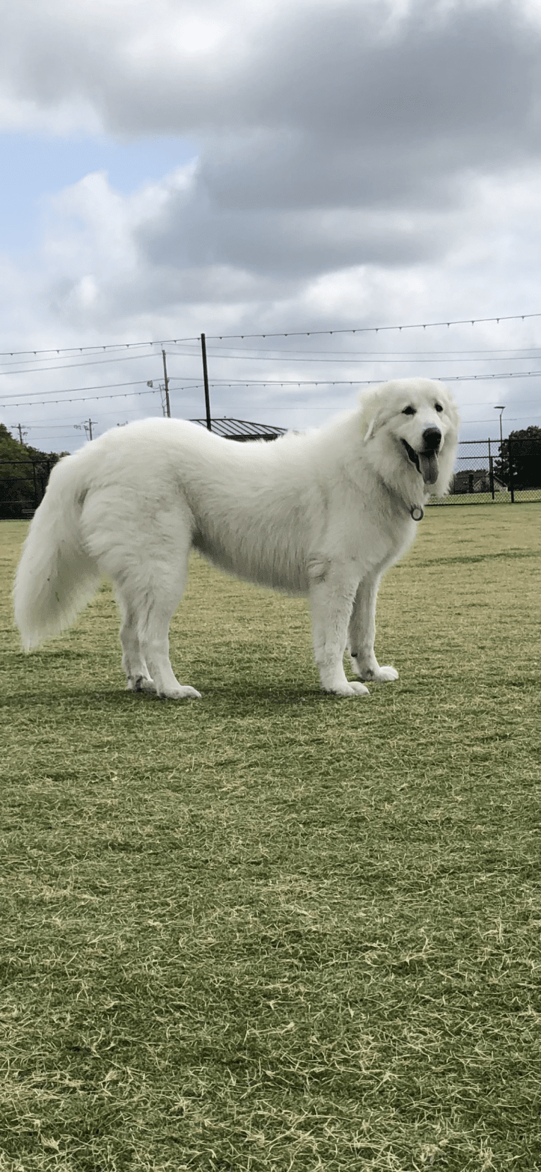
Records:
[[[69,627],[101,579],[81,540],[85,464],[81,454],[55,465],[25,541],[13,592],[25,650]]]

